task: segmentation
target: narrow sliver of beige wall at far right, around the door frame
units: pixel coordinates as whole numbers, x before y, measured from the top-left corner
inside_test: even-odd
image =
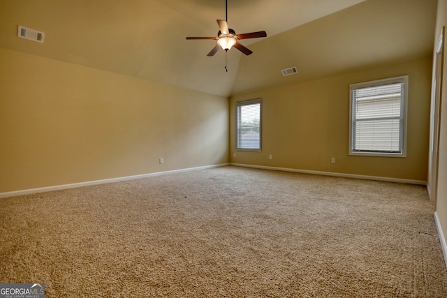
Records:
[[[434,44],[437,44],[439,34],[442,27],[446,26],[447,22],[447,1],[438,1],[438,15],[436,33],[434,36]],[[446,38],[444,37],[444,42]],[[437,189],[437,204],[436,212],[439,218],[439,225],[441,225],[442,232],[444,232],[444,239],[447,239],[447,57],[445,51],[447,50],[444,45],[444,72],[442,82],[442,94],[441,94],[441,128],[439,136],[439,165],[438,165],[438,189]],[[444,248],[446,243],[444,243]],[[447,251],[444,251],[447,254]],[[446,256],[446,255],[444,255]],[[446,259],[447,264],[447,259]]]

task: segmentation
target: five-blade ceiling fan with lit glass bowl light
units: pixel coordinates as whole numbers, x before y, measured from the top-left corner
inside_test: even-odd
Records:
[[[230,50],[231,47],[235,47],[237,50],[240,50],[242,53],[249,55],[251,54],[251,50],[247,49],[237,40],[247,39],[247,38],[258,38],[258,37],[267,37],[267,33],[265,31],[257,31],[251,33],[242,33],[236,34],[233,29],[228,28],[228,1],[225,1],[225,10],[226,10],[226,20],[217,20],[217,24],[219,24],[219,32],[217,32],[217,37],[186,37],[186,39],[213,39],[217,40],[217,45],[207,54],[207,56],[214,56],[219,48],[222,48],[226,52]]]

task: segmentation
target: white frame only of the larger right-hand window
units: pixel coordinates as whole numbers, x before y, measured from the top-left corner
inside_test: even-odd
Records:
[[[406,157],[406,119],[407,119],[407,105],[408,105],[408,75],[402,75],[400,77],[390,77],[382,80],[374,80],[369,82],[361,82],[349,85],[349,155],[353,156],[388,156],[388,157]],[[362,89],[367,87],[379,87],[387,84],[403,83],[403,96],[402,96],[402,129],[400,133],[400,152],[391,151],[367,151],[356,150],[353,148],[354,137],[354,121],[353,119],[353,91],[356,89]]]

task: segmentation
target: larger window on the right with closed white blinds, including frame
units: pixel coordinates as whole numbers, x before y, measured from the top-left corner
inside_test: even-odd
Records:
[[[349,154],[406,156],[408,75],[351,84]]]

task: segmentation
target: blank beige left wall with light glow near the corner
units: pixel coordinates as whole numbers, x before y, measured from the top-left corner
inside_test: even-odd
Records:
[[[3,48],[0,65],[0,193],[228,162],[227,98]]]

